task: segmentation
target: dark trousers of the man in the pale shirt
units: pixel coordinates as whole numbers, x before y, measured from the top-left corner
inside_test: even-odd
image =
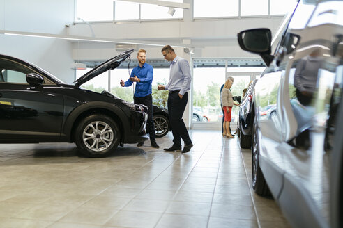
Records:
[[[168,112],[169,122],[174,136],[173,142],[176,146],[181,146],[181,138],[185,144],[191,144],[190,135],[188,134],[182,115],[188,101],[188,92],[183,95],[182,99],[178,97],[178,91],[169,92],[168,95]]]

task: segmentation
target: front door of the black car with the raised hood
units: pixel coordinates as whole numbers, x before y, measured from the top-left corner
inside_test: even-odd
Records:
[[[0,58],[0,141],[58,140],[63,121],[63,96],[46,92],[56,87],[43,76],[42,85],[30,85],[26,74],[39,73],[13,59]]]

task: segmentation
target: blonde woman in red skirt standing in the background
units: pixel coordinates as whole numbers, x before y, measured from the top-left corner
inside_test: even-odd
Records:
[[[234,138],[230,132],[230,122],[231,122],[231,111],[232,106],[234,106],[234,99],[232,99],[232,93],[230,88],[232,86],[231,79],[227,79],[222,89],[222,108],[224,110],[224,123],[222,125],[223,133],[222,136],[227,136],[229,138]]]

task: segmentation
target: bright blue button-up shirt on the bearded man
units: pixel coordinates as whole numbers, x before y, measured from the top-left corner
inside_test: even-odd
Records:
[[[151,90],[151,83],[153,82],[153,67],[151,65],[148,65],[148,63],[144,63],[142,67],[139,65],[135,68],[133,68],[131,72],[131,77],[139,78],[141,81],[136,82],[136,88],[135,88],[135,97],[145,97],[147,95],[150,95]],[[124,86],[131,86],[132,81],[130,79],[128,81],[125,81]]]

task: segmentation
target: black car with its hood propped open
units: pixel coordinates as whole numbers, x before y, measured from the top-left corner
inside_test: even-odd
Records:
[[[80,86],[118,67],[128,50],[68,85],[24,60],[0,55],[0,142],[75,142],[82,154],[108,156],[124,143],[143,142],[146,106]]]

